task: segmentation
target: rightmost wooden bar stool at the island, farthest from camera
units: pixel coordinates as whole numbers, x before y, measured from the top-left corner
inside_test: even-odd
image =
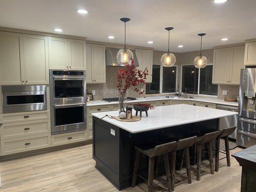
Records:
[[[215,171],[218,172],[219,171],[219,140],[220,138],[225,139],[225,148],[226,148],[226,158],[227,158],[227,166],[230,167],[230,152],[229,152],[229,135],[232,134],[232,132],[234,132],[236,129],[236,127],[230,127],[227,129],[223,129],[219,135],[216,138],[216,150],[215,150]]]

